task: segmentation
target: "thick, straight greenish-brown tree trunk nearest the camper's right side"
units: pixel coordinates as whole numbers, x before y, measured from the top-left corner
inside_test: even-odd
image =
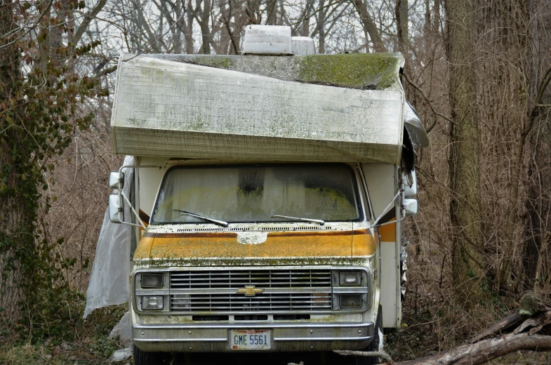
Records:
[[[474,67],[473,9],[470,0],[446,1],[449,100],[451,107],[449,185],[453,284],[468,303],[482,293],[480,132]]]

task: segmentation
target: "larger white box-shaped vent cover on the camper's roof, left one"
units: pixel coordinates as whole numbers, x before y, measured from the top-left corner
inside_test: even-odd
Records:
[[[242,53],[244,55],[292,55],[291,27],[247,25]]]

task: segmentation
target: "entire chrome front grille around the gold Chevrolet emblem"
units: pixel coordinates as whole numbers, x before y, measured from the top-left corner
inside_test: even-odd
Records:
[[[237,293],[245,286],[262,293]],[[326,312],[331,270],[201,270],[171,272],[173,312]]]

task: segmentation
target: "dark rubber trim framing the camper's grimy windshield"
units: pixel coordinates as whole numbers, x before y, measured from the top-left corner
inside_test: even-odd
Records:
[[[358,218],[354,220],[326,220],[325,223],[348,223],[348,222],[363,222],[365,220],[365,211],[364,206],[362,204],[363,197],[361,196],[361,191],[359,190],[358,185],[358,175],[357,171],[352,168],[349,164],[346,164],[344,162],[291,162],[291,163],[267,163],[267,164],[258,164],[258,163],[251,163],[251,164],[205,164],[205,165],[175,165],[171,166],[166,170],[166,172],[163,175],[163,179],[161,180],[161,184],[159,185],[159,188],[157,189],[157,196],[155,197],[155,203],[153,204],[153,210],[151,213],[150,218],[150,225],[197,225],[197,222],[156,222],[154,220],[155,213],[157,213],[157,205],[159,204],[159,197],[161,196],[161,188],[164,186],[164,183],[166,181],[166,177],[168,176],[168,173],[172,170],[180,169],[180,168],[232,168],[232,167],[240,167],[240,166],[256,166],[256,167],[267,167],[267,166],[345,166],[351,173],[352,177],[352,185],[354,187],[354,194],[356,198],[357,208],[358,208]],[[274,221],[274,220],[255,220],[251,222],[243,222],[243,221],[232,221],[232,220],[226,220],[220,218],[220,220],[224,220],[228,224],[258,224],[258,223],[297,223],[296,220],[283,220],[283,221]],[[306,222],[304,222],[306,223]],[[310,224],[317,224],[317,223],[310,223]]]

